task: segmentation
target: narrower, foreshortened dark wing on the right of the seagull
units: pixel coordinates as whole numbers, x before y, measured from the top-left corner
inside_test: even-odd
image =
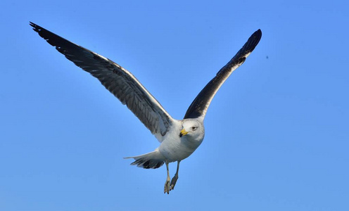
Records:
[[[200,91],[198,96],[196,96],[196,98],[193,100],[193,103],[191,103],[188,110],[186,110],[184,119],[205,117],[208,106],[210,106],[212,98],[215,96],[218,89],[220,89],[220,86],[222,86],[231,72],[236,70],[236,68],[239,68],[239,66],[242,65],[243,62],[245,62],[248,55],[250,55],[253,49],[255,49],[255,46],[257,46],[261,37],[262,31],[260,30],[255,31],[250,36],[250,38],[248,39],[246,44],[243,45],[240,51],[236,53],[233,58],[231,58],[227,65],[225,65],[222,69],[220,69],[219,72],[217,72],[217,75],[212,80],[210,80],[210,82],[208,82],[203,90]]]

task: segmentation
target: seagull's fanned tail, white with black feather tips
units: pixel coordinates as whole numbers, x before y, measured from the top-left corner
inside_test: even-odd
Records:
[[[137,167],[143,167],[144,169],[157,169],[165,162],[165,158],[160,154],[158,149],[151,153],[146,153],[144,155],[138,155],[134,157],[127,157],[125,159],[128,158],[133,158],[135,160],[131,163],[131,165],[137,165]]]

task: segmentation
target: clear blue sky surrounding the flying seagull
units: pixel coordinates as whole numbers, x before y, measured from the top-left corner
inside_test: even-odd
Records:
[[[0,210],[349,210],[348,1],[0,6]],[[155,137],[29,21],[119,63],[177,119],[250,34],[262,39],[167,196],[165,167],[122,159]]]

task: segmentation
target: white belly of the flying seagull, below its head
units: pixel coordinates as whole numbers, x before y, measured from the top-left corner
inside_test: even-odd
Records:
[[[164,140],[159,146],[160,153],[167,159],[168,162],[174,162],[177,160],[184,160],[191,155],[198,146],[200,142],[196,143],[184,143],[183,141],[167,141]]]

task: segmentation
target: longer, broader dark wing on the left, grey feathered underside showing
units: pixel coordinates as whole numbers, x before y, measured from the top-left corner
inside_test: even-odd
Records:
[[[136,115],[159,141],[172,125],[172,117],[130,72],[112,60],[84,49],[43,27],[30,23],[40,37],[75,65],[99,79],[106,89]],[[160,135],[160,136],[159,136]]]

